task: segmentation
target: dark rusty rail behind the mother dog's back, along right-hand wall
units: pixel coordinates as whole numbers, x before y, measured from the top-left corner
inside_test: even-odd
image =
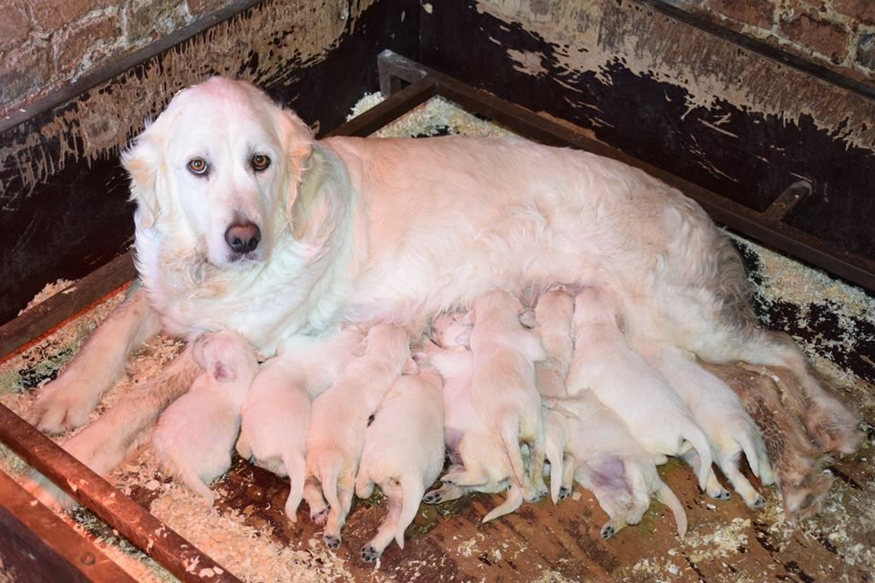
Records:
[[[780,220],[783,215],[769,208],[764,212],[749,209],[734,200],[726,199],[714,191],[700,187],[663,169],[635,159],[623,151],[586,137],[582,131],[558,124],[547,118],[505,101],[481,89],[461,83],[453,77],[423,66],[416,61],[384,51],[378,57],[381,80],[398,77],[407,83],[415,83],[426,76],[436,82],[438,96],[458,103],[471,113],[491,118],[525,138],[551,146],[581,148],[586,151],[620,160],[634,168],[642,169],[655,178],[681,190],[695,199],[711,217],[731,230],[756,239],[778,251],[829,271],[842,279],[875,292],[875,261],[858,254],[844,251],[818,237],[798,230]],[[397,84],[386,79],[387,88]]]

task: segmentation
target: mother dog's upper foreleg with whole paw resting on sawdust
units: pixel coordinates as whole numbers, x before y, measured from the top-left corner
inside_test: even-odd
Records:
[[[124,372],[129,353],[160,329],[158,313],[135,282],[125,301],[91,334],[57,379],[40,390],[28,414],[31,424],[53,434],[85,424],[100,397]]]

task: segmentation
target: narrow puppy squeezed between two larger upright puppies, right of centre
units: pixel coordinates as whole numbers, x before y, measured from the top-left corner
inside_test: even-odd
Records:
[[[571,317],[574,298],[562,289],[543,292],[535,305],[535,332],[540,337],[547,360],[535,364],[538,390],[543,397],[563,399],[568,396],[565,379],[574,350],[571,340]],[[550,462],[550,496],[553,504],[571,494],[574,473],[571,435],[564,414],[544,411],[544,454]]]

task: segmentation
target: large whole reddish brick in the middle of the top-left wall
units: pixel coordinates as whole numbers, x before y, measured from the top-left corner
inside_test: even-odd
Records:
[[[114,13],[88,18],[58,32],[53,37],[58,73],[75,78],[85,69],[99,66],[100,61],[118,53],[113,47],[121,35],[120,19]],[[86,57],[90,62],[83,62]]]

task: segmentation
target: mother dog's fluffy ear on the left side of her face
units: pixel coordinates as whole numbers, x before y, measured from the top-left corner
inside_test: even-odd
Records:
[[[137,203],[137,222],[143,229],[151,228],[160,213],[162,150],[160,124],[156,122],[148,125],[134,146],[121,156],[121,164],[130,176],[130,200]]]

